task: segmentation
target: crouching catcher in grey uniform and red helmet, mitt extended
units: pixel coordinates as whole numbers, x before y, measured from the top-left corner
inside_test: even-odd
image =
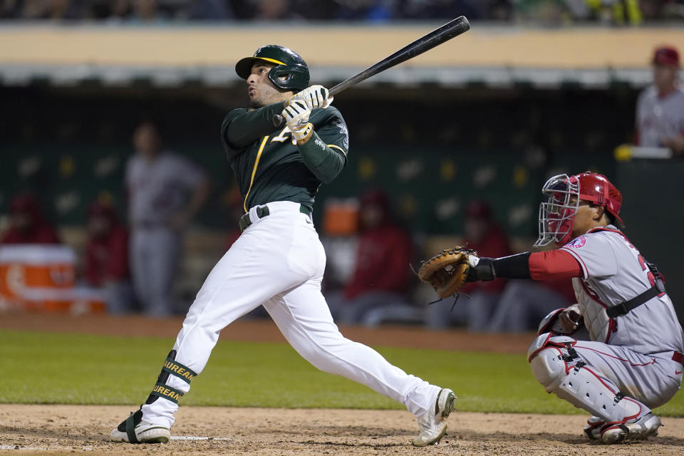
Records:
[[[466,281],[572,279],[577,304],[551,312],[528,351],[546,392],[591,413],[584,432],[604,443],[645,440],[662,424],[651,408],[682,382],[684,335],[664,279],[618,229],[622,196],[603,175],[546,182],[535,247],[549,252],[480,258],[456,247],[423,264],[440,298]],[[505,305],[505,303],[502,303]],[[589,341],[572,337],[586,326]]]

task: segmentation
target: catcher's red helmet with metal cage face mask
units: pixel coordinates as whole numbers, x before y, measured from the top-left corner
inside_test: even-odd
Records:
[[[547,199],[539,204],[539,239],[534,247],[551,242],[558,246],[567,244],[572,237],[572,224],[580,201],[602,206],[609,218],[623,225],[619,215],[622,195],[603,175],[594,172],[571,177],[556,175],[546,181],[541,192]]]

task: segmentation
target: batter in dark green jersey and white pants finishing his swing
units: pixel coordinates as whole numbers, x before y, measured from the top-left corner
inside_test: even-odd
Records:
[[[288,48],[263,46],[235,69],[247,81],[251,108],[228,113],[221,139],[244,198],[243,232],[204,281],[152,393],[112,439],[168,442],[178,400],[202,373],[219,333],[263,305],[314,366],[405,405],[418,418],[413,445],[438,442],[454,407],[452,390],[408,375],[344,338],[321,294],[326,254],[311,210],[321,182],[331,182],[346,164],[342,115],[330,106],[326,88],[308,87],[309,68]],[[276,114],[286,125],[274,127]]]

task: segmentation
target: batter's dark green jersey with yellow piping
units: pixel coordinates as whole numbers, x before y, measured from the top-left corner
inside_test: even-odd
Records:
[[[331,182],[346,164],[349,136],[341,113],[332,106],[311,111],[314,135],[296,145],[286,126],[271,118],[283,103],[234,109],[221,128],[221,140],[242,193],[242,209],[272,201],[313,207],[321,182]]]

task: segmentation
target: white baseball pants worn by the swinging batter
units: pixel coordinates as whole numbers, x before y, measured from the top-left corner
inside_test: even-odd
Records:
[[[326,254],[314,224],[297,203],[268,206],[270,214],[261,219],[256,207],[250,209],[252,225],[204,281],[173,347],[176,361],[201,373],[221,330],[263,304],[290,345],[316,368],[362,383],[423,415],[440,388],[342,336],[321,294]],[[166,383],[190,389],[174,375]],[[177,408],[157,398],[142,406],[143,419],[170,427]]]

